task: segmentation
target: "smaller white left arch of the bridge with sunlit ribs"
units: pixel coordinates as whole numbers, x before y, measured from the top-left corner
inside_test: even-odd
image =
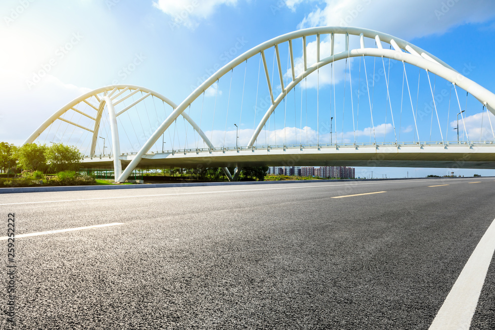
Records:
[[[120,112],[116,113],[114,106],[113,106],[113,103],[114,103],[113,101],[116,100],[116,97],[125,93],[126,91],[132,91],[130,94],[136,94],[138,92],[143,92],[146,94],[143,97],[141,97],[140,99],[138,99],[137,101],[135,101],[133,104],[127,106],[124,110],[121,110]],[[43,122],[40,125],[40,127],[38,127],[38,129],[36,131],[34,131],[33,134],[31,134],[26,139],[26,141],[24,141],[23,144],[33,143],[54,121],[59,119],[59,120],[63,120],[65,122],[69,123],[70,125],[75,125],[79,128],[82,128],[84,130],[88,130],[88,131],[93,133],[93,139],[92,139],[91,152],[90,153],[92,156],[94,156],[95,155],[96,141],[98,139],[98,134],[99,134],[99,125],[100,125],[101,115],[102,115],[102,112],[103,112],[105,105],[106,105],[106,107],[108,109],[108,113],[109,113],[109,118],[110,118],[110,130],[111,130],[113,150],[114,150],[113,163],[114,163],[114,171],[115,171],[115,180],[117,180],[117,178],[119,178],[119,176],[121,176],[121,174],[122,174],[122,164],[121,164],[121,161],[119,158],[120,142],[119,142],[116,116],[118,116],[122,112],[126,111],[127,109],[131,108],[132,106],[136,105],[137,103],[144,100],[146,97],[148,97],[150,95],[161,99],[163,102],[170,105],[173,109],[177,108],[177,104],[175,104],[169,98],[163,96],[162,94],[154,92],[152,90],[144,88],[144,87],[134,86],[134,85],[105,86],[105,87],[101,87],[99,89],[93,90],[91,92],[88,92],[86,94],[83,94],[83,95],[75,98],[74,100],[70,101],[65,106],[61,107],[58,111],[53,113],[53,115],[51,115],[45,122]],[[89,99],[92,97],[95,97],[96,100],[99,101],[98,105],[91,103],[91,101]],[[83,113],[82,111],[78,110],[77,108],[75,108],[75,106],[81,102],[85,102],[90,107],[95,109],[97,111],[97,115],[95,117],[92,117],[86,113]],[[94,128],[90,129],[90,128],[83,127],[83,126],[80,126],[76,123],[72,123],[72,122],[69,122],[67,120],[62,119],[61,116],[69,110],[74,110],[74,111],[79,112],[82,115],[94,120],[95,121]],[[186,112],[181,113],[181,116],[183,116],[184,119],[187,120],[189,122],[189,124],[195,129],[195,131],[198,132],[199,136],[206,143],[206,145],[209,148],[213,149],[214,145],[206,137],[204,132],[199,128],[198,124]],[[223,170],[225,172],[225,175],[229,178],[229,180],[232,181],[232,175],[230,174],[229,170],[227,168],[223,168]],[[126,176],[126,178],[127,177],[128,177],[128,175]]]

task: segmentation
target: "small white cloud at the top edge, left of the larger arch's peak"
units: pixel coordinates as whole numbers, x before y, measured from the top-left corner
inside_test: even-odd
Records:
[[[157,0],[153,6],[169,15],[169,25],[185,26],[190,29],[198,27],[201,19],[208,18],[216,7],[222,4],[235,5],[238,0]]]

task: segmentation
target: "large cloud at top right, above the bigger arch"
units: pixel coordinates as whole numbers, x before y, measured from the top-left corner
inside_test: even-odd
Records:
[[[302,0],[285,0],[294,8]],[[305,0],[312,2],[312,0]],[[489,0],[320,0],[299,27],[357,26],[411,40],[465,24],[480,23],[495,16]]]

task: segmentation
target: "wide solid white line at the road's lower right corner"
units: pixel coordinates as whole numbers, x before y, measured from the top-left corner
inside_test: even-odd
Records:
[[[430,330],[469,330],[494,251],[495,220],[469,257],[433,320]]]

